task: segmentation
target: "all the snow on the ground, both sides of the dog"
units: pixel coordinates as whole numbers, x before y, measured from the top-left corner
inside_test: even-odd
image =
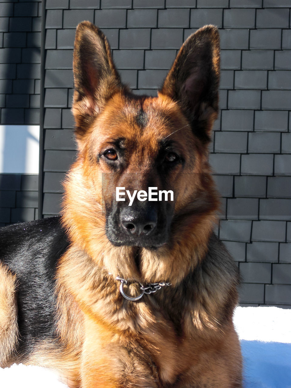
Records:
[[[291,388],[291,310],[237,307],[234,324],[244,357],[244,388]],[[66,385],[44,368],[12,365],[0,369],[0,387],[66,388]]]

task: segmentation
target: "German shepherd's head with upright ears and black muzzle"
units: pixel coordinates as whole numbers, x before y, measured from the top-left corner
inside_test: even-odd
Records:
[[[92,204],[90,217],[97,217],[93,202],[102,204],[112,244],[158,248],[169,241],[179,215],[213,206],[205,193],[218,112],[217,28],[205,26],[189,36],[158,97],[130,93],[106,37],[89,22],[77,27],[73,68],[77,166]],[[116,187],[124,193],[120,201]],[[156,188],[157,201],[149,200],[149,187]]]

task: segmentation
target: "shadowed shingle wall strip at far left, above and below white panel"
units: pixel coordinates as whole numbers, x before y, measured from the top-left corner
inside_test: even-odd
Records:
[[[0,1],[0,125],[6,131],[39,125],[41,6]],[[37,208],[38,175],[0,173],[0,226],[34,220]]]

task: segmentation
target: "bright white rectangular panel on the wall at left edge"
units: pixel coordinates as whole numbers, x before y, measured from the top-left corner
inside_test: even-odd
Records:
[[[0,173],[38,174],[39,125],[0,125]]]

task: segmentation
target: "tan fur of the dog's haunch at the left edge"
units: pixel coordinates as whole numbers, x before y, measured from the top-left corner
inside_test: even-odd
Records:
[[[0,263],[0,366],[5,367],[18,342],[16,276]]]

